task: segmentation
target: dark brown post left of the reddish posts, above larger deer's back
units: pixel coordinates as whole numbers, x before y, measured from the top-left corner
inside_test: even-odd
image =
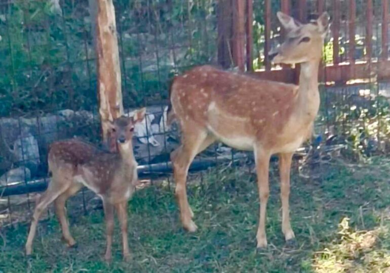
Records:
[[[232,1],[219,0],[217,8],[218,64],[223,68],[229,68],[233,62],[231,55],[232,16]]]

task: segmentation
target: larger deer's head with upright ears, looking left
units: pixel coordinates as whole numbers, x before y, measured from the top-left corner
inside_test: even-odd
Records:
[[[308,24],[302,24],[282,12],[278,12],[277,16],[287,33],[280,47],[269,52],[272,62],[297,64],[321,59],[330,25],[328,13],[324,12]]]

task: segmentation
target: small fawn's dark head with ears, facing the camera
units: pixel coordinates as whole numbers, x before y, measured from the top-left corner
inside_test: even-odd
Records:
[[[110,152],[132,149],[134,126],[136,123],[142,122],[145,113],[146,108],[141,108],[136,110],[131,117],[121,116],[110,122],[110,136],[108,140]]]

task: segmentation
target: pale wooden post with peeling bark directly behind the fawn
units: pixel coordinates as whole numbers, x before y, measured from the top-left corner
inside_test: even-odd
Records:
[[[109,122],[123,114],[121,68],[112,0],[95,0],[94,4],[99,114],[103,141],[107,141]]]

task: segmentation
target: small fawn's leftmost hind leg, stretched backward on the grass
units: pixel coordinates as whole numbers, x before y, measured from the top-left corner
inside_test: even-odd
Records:
[[[35,237],[36,225],[46,207],[52,203],[60,194],[62,194],[69,187],[68,184],[61,184],[56,177],[53,176],[51,183],[49,183],[48,189],[41,196],[38,203],[35,205],[34,213],[32,215],[30,232],[28,233],[26,242],[26,255],[30,255],[32,251],[32,241]]]

